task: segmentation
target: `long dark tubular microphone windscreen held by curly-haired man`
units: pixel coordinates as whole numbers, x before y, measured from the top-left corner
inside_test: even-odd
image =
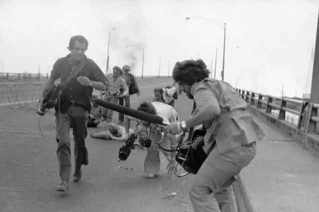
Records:
[[[134,118],[151,122],[151,123],[157,123],[157,124],[163,124],[163,118],[157,115],[145,113],[143,111],[135,110],[129,107],[124,107],[122,105],[110,103],[107,101],[104,101],[102,99],[96,99],[94,100],[97,105],[100,105],[102,107],[105,107],[110,110],[114,110],[119,113],[123,113],[128,116],[132,116]]]

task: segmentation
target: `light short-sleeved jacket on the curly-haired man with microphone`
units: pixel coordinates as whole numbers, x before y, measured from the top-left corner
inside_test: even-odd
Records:
[[[212,96],[204,96],[201,88],[208,88]],[[209,98],[216,98],[221,109],[221,114],[212,121],[204,124],[207,134],[204,138],[204,151],[208,154],[216,140],[218,153],[235,149],[243,144],[259,141],[266,136],[264,130],[255,122],[253,116],[246,111],[247,103],[239,93],[227,82],[206,78],[196,82],[191,87],[191,94],[198,111],[201,104]]]

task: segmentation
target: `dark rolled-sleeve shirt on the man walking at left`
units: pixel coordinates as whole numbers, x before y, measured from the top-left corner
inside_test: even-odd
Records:
[[[68,62],[70,57],[71,54],[68,54],[65,57],[61,57],[56,60],[50,76],[53,80],[61,78],[61,82],[63,82],[71,74],[72,69]],[[86,59],[85,65],[80,72],[66,85],[60,107],[55,108],[60,109],[61,112],[65,112],[72,102],[74,102],[74,105],[81,106],[85,110],[91,110],[93,88],[90,86],[81,85],[76,80],[77,77],[86,76],[92,81],[103,83],[106,82],[105,76],[97,64],[93,60],[87,58],[85,55],[84,58]]]

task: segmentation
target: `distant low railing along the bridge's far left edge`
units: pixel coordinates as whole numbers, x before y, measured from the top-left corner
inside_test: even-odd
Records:
[[[155,77],[167,77],[167,76],[150,76],[144,75],[134,75],[136,79],[148,79]],[[29,74],[29,73],[0,73],[0,82],[10,81],[10,82],[33,82],[33,81],[46,81],[49,78],[49,74]]]

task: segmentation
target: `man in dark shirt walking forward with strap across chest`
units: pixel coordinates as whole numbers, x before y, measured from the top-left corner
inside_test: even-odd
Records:
[[[91,109],[93,88],[105,90],[105,76],[96,63],[85,56],[88,41],[81,35],[70,38],[68,49],[70,54],[59,58],[53,65],[50,78],[45,82],[43,91],[51,87],[55,80],[63,82],[80,61],[85,61],[83,68],[66,85],[60,105],[55,108],[56,141],[58,143],[57,158],[61,184],[58,191],[67,191],[71,173],[70,125],[73,126],[75,171],[74,182],[81,179],[81,165],[88,164],[87,149],[84,139],[87,136],[86,125],[88,111]]]

